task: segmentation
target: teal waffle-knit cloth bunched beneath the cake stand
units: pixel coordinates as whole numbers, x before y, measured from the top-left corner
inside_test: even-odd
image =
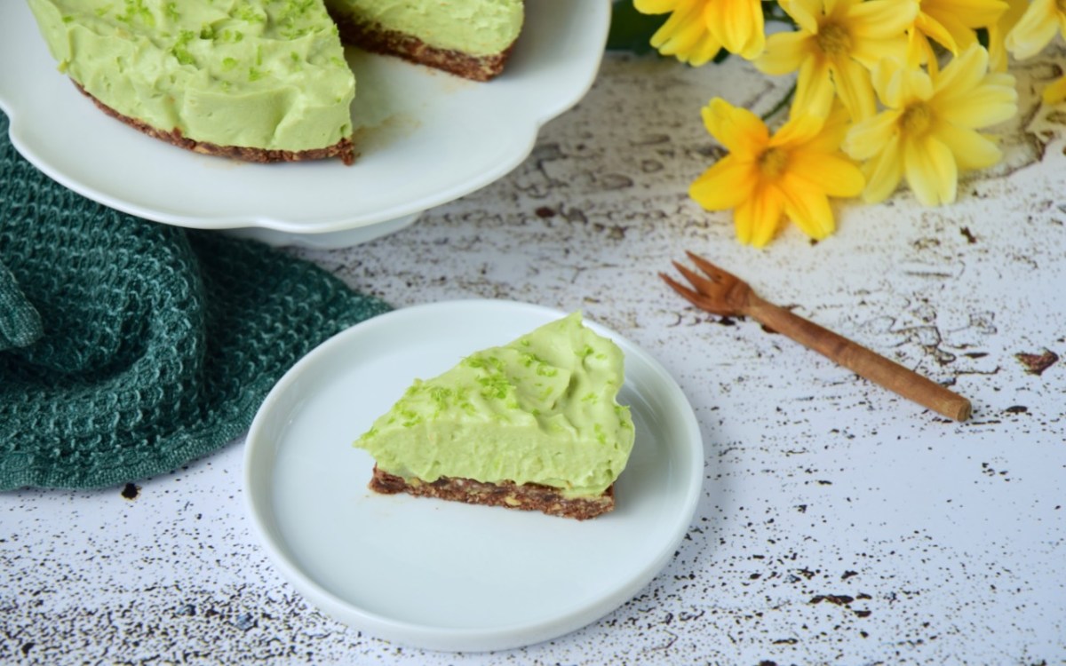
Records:
[[[327,337],[388,309],[251,241],[54,183],[0,114],[0,490],[165,473],[240,436]]]

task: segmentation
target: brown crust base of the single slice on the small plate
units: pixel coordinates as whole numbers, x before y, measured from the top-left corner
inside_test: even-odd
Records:
[[[539,484],[517,485],[513,482],[486,484],[470,478],[441,476],[432,483],[390,474],[374,466],[369,488],[374,492],[395,494],[406,492],[415,497],[437,498],[467,504],[503,506],[527,511],[543,511],[549,516],[587,520],[614,508],[614,486],[598,498],[566,498],[558,488]]]

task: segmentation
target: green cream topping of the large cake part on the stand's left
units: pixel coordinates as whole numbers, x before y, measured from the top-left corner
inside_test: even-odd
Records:
[[[321,0],[29,0],[59,67],[118,113],[220,146],[352,134],[355,78]]]

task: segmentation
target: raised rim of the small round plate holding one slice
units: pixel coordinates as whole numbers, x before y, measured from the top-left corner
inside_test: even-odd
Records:
[[[261,450],[266,446],[276,445],[277,443],[277,439],[272,440],[269,435],[260,435],[260,431],[266,427],[265,422],[273,409],[275,409],[275,403],[284,402],[286,393],[292,390],[292,385],[297,383],[308,369],[313,368],[316,363],[320,362],[320,357],[328,357],[335,347],[342,347],[344,344],[348,344],[349,338],[371,335],[368,330],[372,331],[374,328],[395,325],[394,322],[397,321],[403,322],[407,319],[418,319],[426,313],[432,314],[434,311],[470,307],[485,310],[499,309],[501,313],[507,310],[523,310],[543,316],[546,321],[550,321],[548,318],[556,319],[567,314],[555,308],[518,300],[464,298],[398,308],[376,315],[332,336],[301,358],[271,389],[257,410],[245,438],[244,468],[242,470],[242,487],[244,490],[242,494],[245,511],[249,517],[253,532],[259,545],[266,552],[272,565],[312,605],[322,610],[345,627],[366,631],[375,637],[398,645],[419,649],[450,652],[484,652],[514,649],[563,636],[596,621],[631,599],[668,564],[678,543],[684,538],[684,535],[692,525],[693,517],[704,491],[706,455],[702,434],[695,411],[676,379],[653,356],[642,347],[595,321],[585,320],[585,324],[589,328],[600,335],[610,337],[623,348],[627,363],[632,355],[633,358],[639,359],[641,363],[644,363],[652,371],[660,380],[665,381],[667,390],[671,392],[671,395],[666,400],[667,404],[672,408],[679,410],[683,416],[683,421],[677,425],[684,433],[687,441],[683,446],[678,446],[680,454],[688,454],[687,456],[681,455],[681,459],[687,461],[688,472],[687,475],[681,474],[687,484],[687,492],[683,496],[684,501],[677,507],[676,516],[678,520],[669,538],[664,540],[657,556],[643,566],[637,574],[630,576],[625,581],[625,584],[612,588],[608,594],[596,597],[592,601],[571,608],[561,616],[552,616],[551,618],[533,622],[519,622],[491,629],[478,629],[434,627],[368,611],[342,599],[302,570],[297,566],[297,563],[291,561],[294,557],[290,557],[281,552],[278,545],[274,542],[272,530],[263,518],[263,515],[272,514],[273,509],[260,506],[261,502],[257,499],[258,491],[256,490],[259,483],[266,482],[257,482],[257,480],[253,478],[253,470],[257,467],[255,465],[256,458],[260,455],[268,455],[268,453],[263,453]],[[471,352],[473,351],[471,350]],[[277,540],[284,546],[285,540],[281,537],[282,535],[278,535]],[[353,617],[358,618],[358,622],[353,622]]]

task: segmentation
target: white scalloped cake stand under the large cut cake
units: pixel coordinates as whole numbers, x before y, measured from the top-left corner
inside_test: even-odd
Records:
[[[588,91],[611,0],[526,6],[512,60],[488,83],[348,49],[360,152],[349,167],[339,160],[247,164],[141,134],[97,111],[56,71],[23,0],[0,2],[0,62],[7,63],[0,109],[30,162],[111,208],[183,227],[348,231],[358,242],[378,231],[367,227],[409,223],[505,175],[530,153],[540,126]]]

